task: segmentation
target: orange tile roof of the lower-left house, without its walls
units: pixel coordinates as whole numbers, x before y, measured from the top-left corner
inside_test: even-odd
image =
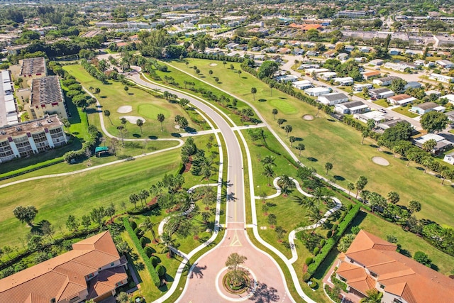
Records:
[[[0,302],[48,303],[52,298],[57,302],[70,299],[87,290],[85,276],[120,259],[109,231],[74,243],[72,248],[0,280]]]

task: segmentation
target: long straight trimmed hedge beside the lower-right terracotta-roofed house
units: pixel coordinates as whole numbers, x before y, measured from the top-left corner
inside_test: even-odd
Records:
[[[323,260],[325,260],[331,249],[336,246],[336,243],[343,235],[345,229],[347,229],[353,219],[355,219],[355,216],[360,211],[360,208],[361,204],[356,204],[352,207],[352,209],[350,209],[350,211],[348,211],[343,221],[339,224],[336,234],[331,238],[328,238],[326,244],[321,248],[320,253],[314,257],[314,263],[311,263],[311,265],[308,266],[307,272],[309,272],[309,275],[314,275],[314,272],[316,272],[317,268],[319,268]]]

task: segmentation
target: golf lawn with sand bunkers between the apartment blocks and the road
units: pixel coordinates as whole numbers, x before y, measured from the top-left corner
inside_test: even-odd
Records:
[[[85,88],[99,87],[101,89],[101,93],[96,98],[99,99],[102,110],[108,109],[111,113],[110,119],[104,117],[104,123],[107,131],[114,136],[119,136],[116,127],[121,125],[120,118],[122,116],[136,116],[144,121],[142,127],[143,135],[135,123],[126,123],[126,129],[128,131],[125,138],[147,138],[148,136],[153,136],[154,138],[170,137],[172,133],[179,133],[175,129],[175,116],[177,115],[185,116],[189,122],[189,127],[200,130],[199,126],[192,123],[187,113],[178,104],[171,104],[165,99],[154,97],[148,94],[148,92],[135,87],[130,87],[128,92],[126,92],[123,89],[123,84],[113,80],[110,81],[111,84],[103,85],[99,80],[90,76],[81,65],[67,65],[64,69],[76,77],[77,81]],[[117,111],[121,106],[131,106],[132,111],[118,113]],[[91,121],[90,116],[98,115],[94,109],[88,109],[87,112],[89,113],[89,121]],[[157,114],[164,114],[165,116],[163,123],[164,131],[161,131],[160,123],[156,120]]]

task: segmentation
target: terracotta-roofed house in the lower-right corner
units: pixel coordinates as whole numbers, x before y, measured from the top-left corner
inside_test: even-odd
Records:
[[[454,280],[397,253],[397,246],[360,231],[338,259],[336,277],[348,292],[365,297],[368,290],[383,293],[384,303],[452,302]]]

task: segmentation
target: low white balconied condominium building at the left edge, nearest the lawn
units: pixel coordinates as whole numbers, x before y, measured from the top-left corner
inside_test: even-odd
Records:
[[[63,123],[56,114],[14,126],[3,126],[0,127],[0,163],[42,153],[66,143]]]

